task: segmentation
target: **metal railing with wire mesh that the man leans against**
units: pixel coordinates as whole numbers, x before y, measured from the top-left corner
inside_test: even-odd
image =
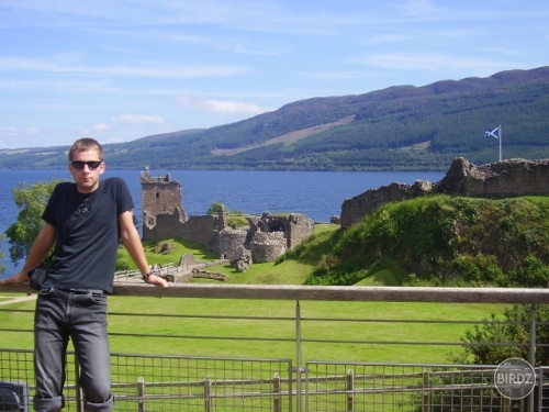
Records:
[[[2,291],[22,291],[22,286],[2,288]],[[525,303],[531,305],[529,360],[535,364],[536,349],[548,343],[536,342],[536,308],[549,303],[549,290],[542,289],[477,289],[477,288],[385,288],[385,287],[300,287],[300,286],[233,286],[175,285],[166,290],[143,283],[115,283],[114,296],[171,297],[232,300],[294,301],[293,316],[232,316],[180,314],[173,319],[203,323],[206,319],[239,322],[291,322],[290,336],[220,336],[213,330],[209,335],[192,334],[192,327],[181,335],[155,333],[155,339],[215,339],[233,343],[274,342],[290,349],[285,357],[247,357],[243,345],[242,357],[173,356],[112,354],[113,392],[117,411],[549,411],[548,369],[536,368],[538,382],[531,394],[522,400],[508,400],[494,386],[496,365],[440,365],[391,361],[322,360],[307,358],[304,347],[315,345],[459,345],[459,342],[437,341],[372,341],[368,338],[315,337],[304,331],[311,324],[362,322],[368,327],[379,323],[410,322],[408,320],[369,319],[356,316],[329,319],[304,318],[301,314],[307,301],[362,302],[451,302],[451,303]],[[0,319],[3,311],[0,308]],[[18,311],[15,309],[10,311]],[[24,311],[24,310],[21,310]],[[110,316],[143,316],[143,313],[111,313]],[[158,315],[153,315],[158,316]],[[433,320],[415,320],[418,324]],[[452,322],[467,322],[459,319]],[[441,322],[445,323],[445,322]],[[448,322],[446,322],[448,323]],[[477,322],[482,323],[482,320]],[[305,326],[306,325],[306,326]],[[266,326],[268,329],[268,326]],[[314,327],[313,327],[314,329]],[[30,330],[5,330],[0,333],[26,333]],[[112,336],[124,335],[111,327]],[[150,336],[144,334],[143,337]],[[0,338],[0,347],[2,339]],[[502,344],[502,343],[500,343]],[[504,343],[517,345],[517,343]],[[182,350],[184,353],[184,349]],[[69,354],[67,383],[68,411],[82,411],[82,394],[76,376],[78,364]],[[412,359],[413,360],[413,359]],[[0,348],[0,381],[25,388],[22,398],[26,410],[29,393],[33,393],[32,352]],[[1,387],[0,387],[1,388]],[[23,393],[23,392],[21,392]],[[26,398],[25,398],[26,397]],[[0,409],[1,411],[1,409]]]

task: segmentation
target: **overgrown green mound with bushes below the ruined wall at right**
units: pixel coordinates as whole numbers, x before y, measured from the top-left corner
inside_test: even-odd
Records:
[[[327,241],[311,285],[547,287],[549,198],[386,204]],[[289,258],[310,258],[304,243]]]

